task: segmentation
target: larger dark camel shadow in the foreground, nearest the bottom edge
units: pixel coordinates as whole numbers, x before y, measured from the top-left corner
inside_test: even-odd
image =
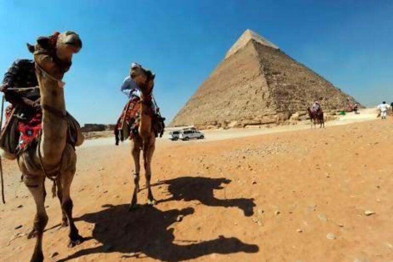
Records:
[[[219,236],[207,241],[176,240],[174,229],[168,227],[181,223],[180,215],[186,219],[185,217],[193,214],[194,208],[191,207],[162,211],[146,205],[133,212],[128,211],[128,204],[103,207],[105,209],[85,214],[78,219],[94,223],[92,237],[99,244],[59,261],[111,252],[123,253],[121,258],[149,257],[160,261],[184,261],[213,253],[255,253],[259,250],[257,245],[243,243],[235,237]],[[179,241],[183,244],[174,243]]]

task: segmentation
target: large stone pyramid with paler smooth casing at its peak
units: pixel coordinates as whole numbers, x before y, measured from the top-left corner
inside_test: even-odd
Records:
[[[315,99],[321,99],[326,113],[357,103],[248,29],[170,126],[244,127],[285,122],[304,116]]]

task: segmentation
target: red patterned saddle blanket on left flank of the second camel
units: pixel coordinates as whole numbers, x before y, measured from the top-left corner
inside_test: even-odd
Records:
[[[130,132],[131,128],[137,128],[139,125],[140,119],[140,98],[138,96],[134,96],[131,98],[127,104],[125,105],[123,111],[121,112],[120,117],[117,120],[116,127],[114,129],[115,136],[118,135],[118,132],[123,132],[123,139],[127,139],[130,135],[132,136],[132,132]]]

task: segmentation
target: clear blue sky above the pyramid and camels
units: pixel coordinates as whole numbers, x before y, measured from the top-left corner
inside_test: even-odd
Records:
[[[131,62],[156,73],[172,118],[245,29],[263,35],[365,105],[393,100],[391,0],[0,0],[0,74],[54,31],[83,41],[64,77],[81,123],[114,123]]]

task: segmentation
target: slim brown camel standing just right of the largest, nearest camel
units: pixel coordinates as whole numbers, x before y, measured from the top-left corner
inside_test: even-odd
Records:
[[[141,91],[140,101],[140,125],[138,133],[133,136],[131,153],[134,158],[135,173],[134,173],[134,193],[132,196],[130,210],[137,207],[137,195],[140,190],[139,187],[139,173],[140,173],[140,150],[143,150],[143,166],[145,170],[146,188],[147,188],[147,204],[154,205],[153,194],[150,188],[151,179],[151,159],[153,157],[156,137],[153,130],[153,96],[152,91],[154,87],[154,74],[149,70],[142,68],[140,65],[133,65],[130,72],[131,78],[137,83]]]

